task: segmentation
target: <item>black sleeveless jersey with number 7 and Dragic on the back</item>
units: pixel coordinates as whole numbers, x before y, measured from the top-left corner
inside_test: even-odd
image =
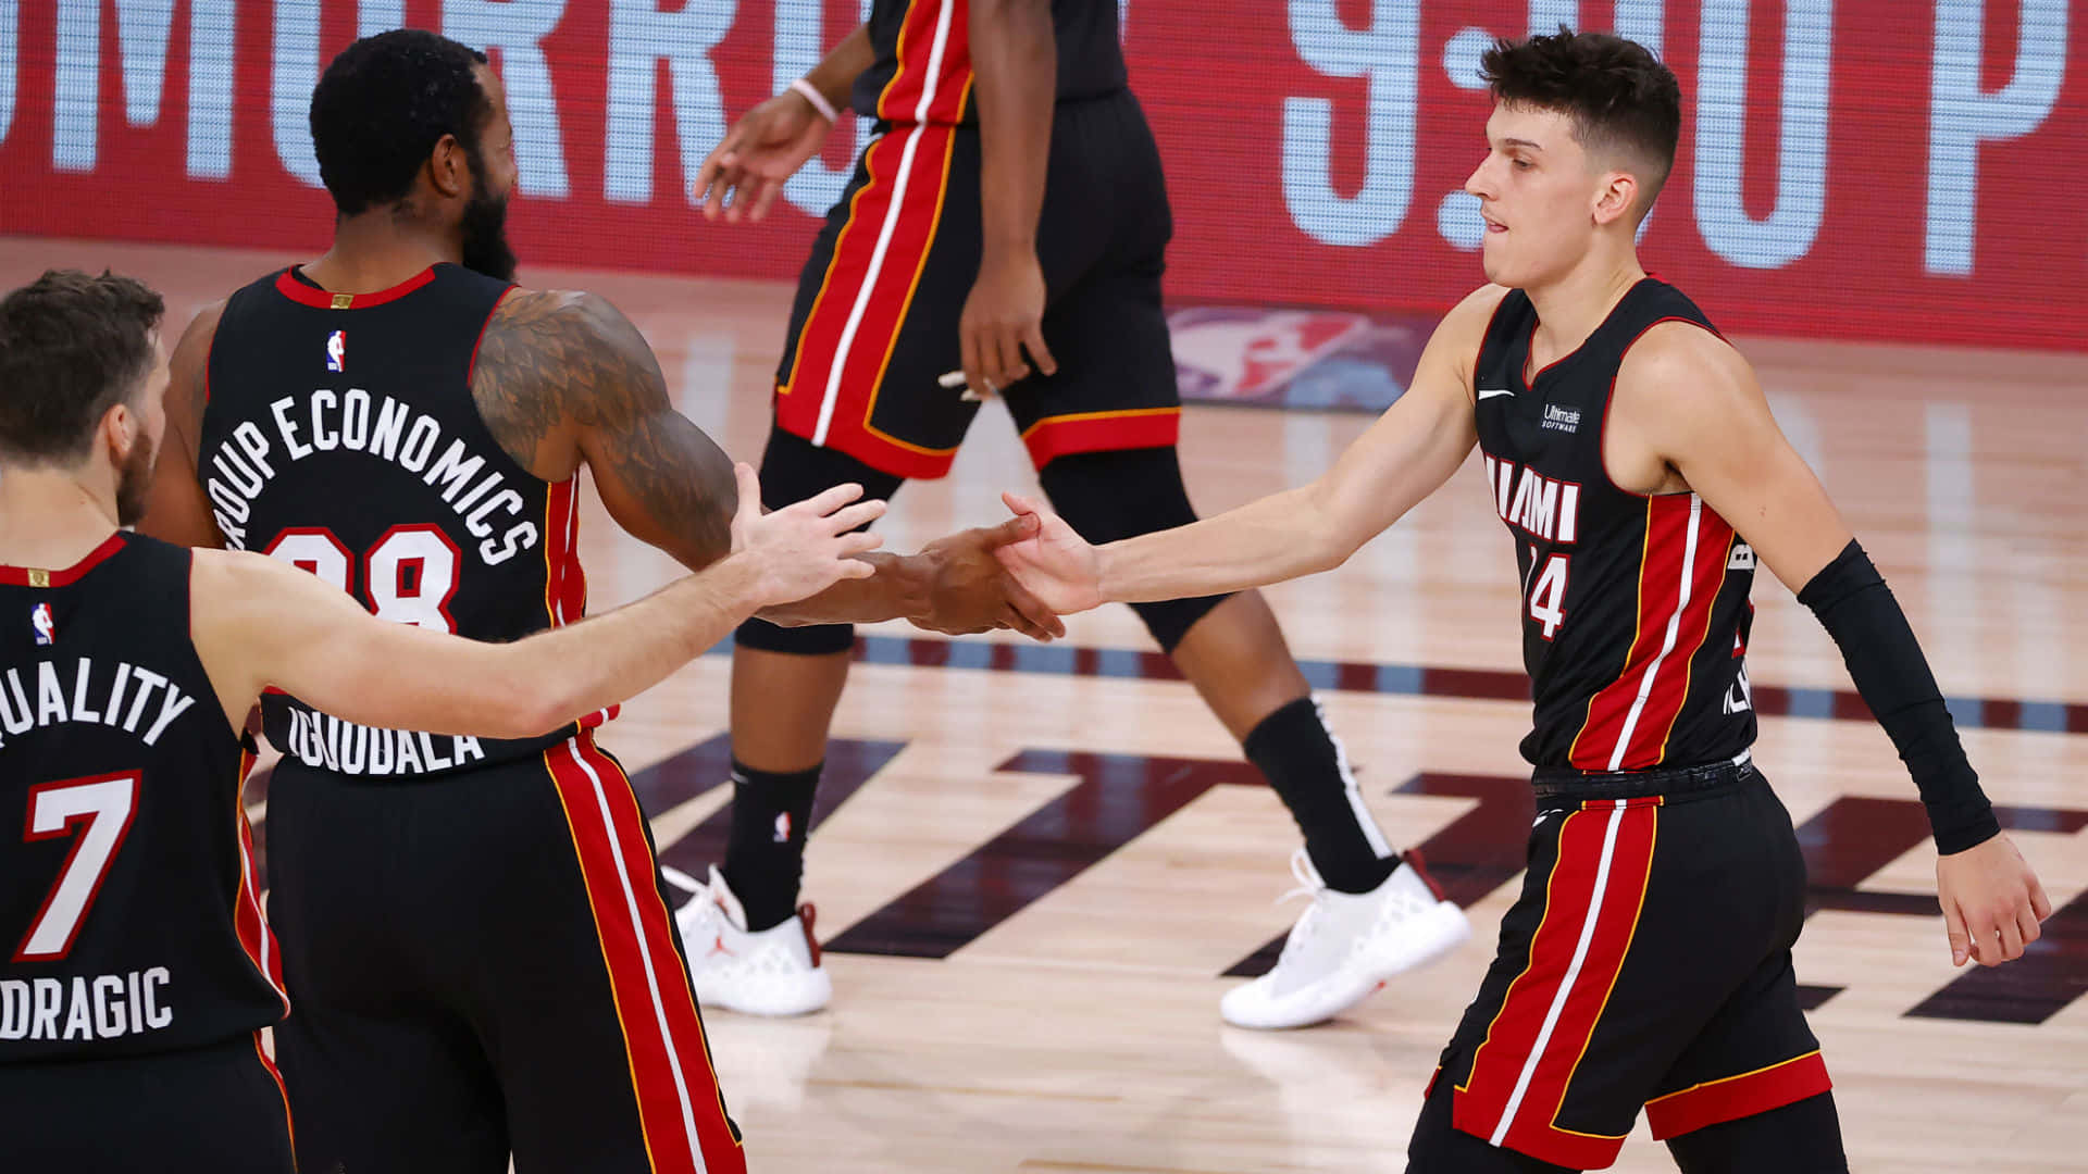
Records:
[[[117,533],[65,570],[0,566],[0,1063],[190,1049],[288,1011],[188,564]]]

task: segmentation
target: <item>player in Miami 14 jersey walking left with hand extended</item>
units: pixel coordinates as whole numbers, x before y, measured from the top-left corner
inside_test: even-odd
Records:
[[[1846,1170],[1798,1007],[1804,865],[1750,760],[1756,558],[1814,610],[1936,833],[1952,961],[1998,965],[2050,913],[2000,831],[1877,568],[1777,430],[1746,359],[1633,232],[1675,161],[1681,90],[1604,33],[1497,42],[1466,190],[1489,286],[1320,480],[1088,545],[1044,520],[1002,558],[1061,614],[1340,564],[1464,464],[1522,568],[1537,825],[1493,967],[1443,1051],[1407,1170],[1589,1170],[1645,1107],[1689,1172]]]

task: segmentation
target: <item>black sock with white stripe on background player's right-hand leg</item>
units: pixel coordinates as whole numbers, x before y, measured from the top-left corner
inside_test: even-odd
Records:
[[[1299,821],[1305,852],[1328,888],[1370,892],[1393,875],[1399,854],[1391,846],[1378,854],[1384,833],[1355,794],[1349,762],[1320,714],[1320,702],[1299,698],[1272,712],[1247,735],[1242,748]]]

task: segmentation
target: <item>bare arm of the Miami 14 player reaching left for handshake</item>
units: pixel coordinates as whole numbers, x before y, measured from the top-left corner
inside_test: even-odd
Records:
[[[1046,606],[1079,612],[1102,602],[1182,600],[1242,591],[1330,570],[1437,491],[1478,443],[1472,355],[1505,290],[1464,299],[1437,326],[1414,384],[1326,474],[1226,514],[1090,547],[1042,503],[1042,535],[1002,547],[1000,560]]]

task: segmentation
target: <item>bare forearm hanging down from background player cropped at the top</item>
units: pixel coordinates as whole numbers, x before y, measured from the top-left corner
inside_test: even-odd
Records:
[[[977,0],[969,19],[973,100],[979,104],[979,211],[992,261],[1036,249],[1059,44],[1044,0]]]

